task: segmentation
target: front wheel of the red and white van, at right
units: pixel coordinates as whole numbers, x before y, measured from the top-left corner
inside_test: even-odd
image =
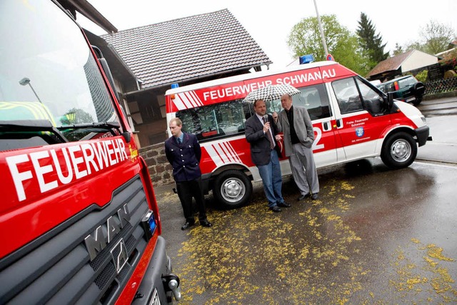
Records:
[[[408,167],[416,159],[417,144],[410,134],[397,132],[384,141],[381,159],[391,169]]]

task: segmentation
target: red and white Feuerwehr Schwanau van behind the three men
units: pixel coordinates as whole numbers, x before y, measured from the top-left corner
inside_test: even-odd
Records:
[[[313,121],[317,167],[381,156],[387,166],[399,169],[414,161],[418,146],[428,139],[421,111],[394,101],[335,61],[172,86],[166,91],[167,120],[179,117],[183,130],[198,136],[204,188],[212,189],[223,206],[246,204],[251,181],[261,181],[244,134],[253,105],[243,99],[269,84],[290,84],[301,91],[293,95],[293,105],[305,106]],[[279,99],[266,104],[269,113],[281,111]],[[282,174],[290,175],[288,160],[280,163]]]

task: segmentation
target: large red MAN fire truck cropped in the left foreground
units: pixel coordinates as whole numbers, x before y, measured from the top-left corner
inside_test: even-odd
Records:
[[[0,14],[0,304],[180,299],[102,54],[56,1]]]

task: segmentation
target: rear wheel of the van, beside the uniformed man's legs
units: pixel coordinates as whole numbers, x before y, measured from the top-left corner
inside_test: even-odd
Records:
[[[235,209],[247,204],[251,194],[251,181],[242,171],[224,171],[216,177],[213,184],[214,198],[226,209]]]

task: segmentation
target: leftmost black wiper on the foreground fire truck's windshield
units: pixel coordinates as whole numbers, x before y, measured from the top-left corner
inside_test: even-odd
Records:
[[[56,136],[59,141],[66,143],[64,134],[52,125],[49,120],[14,120],[0,121],[0,131],[2,132],[40,132],[49,131]]]

